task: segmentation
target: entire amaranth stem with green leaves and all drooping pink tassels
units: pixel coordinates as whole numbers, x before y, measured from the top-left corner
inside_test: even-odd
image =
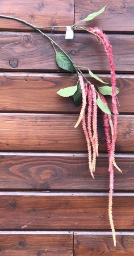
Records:
[[[106,6],[104,6],[101,10],[97,11],[96,13],[88,15],[83,20],[91,20],[95,18],[95,16],[101,14]],[[115,143],[117,137],[117,125],[118,125],[118,109],[117,109],[117,98],[116,98],[116,77],[115,77],[115,66],[114,60],[112,56],[112,46],[106,34],[97,27],[95,28],[87,28],[87,27],[78,27],[76,26],[81,20],[79,20],[76,24],[73,24],[71,28],[79,29],[86,32],[90,32],[93,34],[97,40],[102,44],[104,51],[106,52],[107,59],[110,64],[110,71],[111,71],[111,96],[112,96],[112,113],[114,114],[113,121],[111,118],[111,112],[108,109],[108,104],[106,99],[103,95],[98,92],[94,84],[91,84],[89,80],[85,77],[82,73],[81,68],[88,69],[89,75],[92,76],[94,79],[98,80],[99,82],[103,82],[97,75],[90,71],[87,67],[77,66],[76,63],[72,60],[72,58],[59,46],[55,40],[53,40],[48,34],[43,32],[41,29],[43,28],[51,28],[52,30],[56,28],[66,28],[66,26],[41,26],[37,27],[30,22],[26,22],[23,19],[15,18],[13,16],[7,15],[0,15],[0,18],[6,19],[13,19],[27,26],[33,28],[41,35],[45,36],[51,42],[53,49],[56,52],[56,63],[58,67],[73,72],[74,70],[78,76],[78,82],[75,86],[70,86],[68,88],[64,88],[59,90],[57,93],[63,97],[73,96],[74,98],[82,98],[82,107],[81,112],[79,114],[78,121],[75,128],[82,122],[83,132],[85,134],[86,143],[87,143],[87,150],[89,156],[89,170],[91,176],[94,178],[94,171],[96,165],[96,159],[98,156],[98,129],[97,129],[97,113],[98,113],[98,106],[103,111],[103,122],[104,122],[104,130],[106,134],[106,143],[107,143],[107,151],[108,151],[108,159],[109,159],[109,168],[108,171],[110,172],[110,190],[109,190],[109,200],[108,200],[108,216],[110,220],[110,226],[112,230],[112,237],[114,240],[114,245],[116,246],[116,236],[115,236],[115,228],[114,228],[114,221],[112,218],[112,196],[114,191],[114,167],[116,167],[119,171],[120,168],[117,166],[115,162]],[[60,52],[57,51],[57,48],[60,49]],[[109,86],[110,87],[110,86]],[[99,88],[99,87],[98,87]],[[66,90],[67,89],[67,90]],[[110,88],[111,89],[111,88]],[[109,90],[110,90],[109,89]],[[77,96],[75,96],[77,94]],[[80,97],[79,97],[80,95]],[[87,118],[86,118],[86,107],[87,107]]]

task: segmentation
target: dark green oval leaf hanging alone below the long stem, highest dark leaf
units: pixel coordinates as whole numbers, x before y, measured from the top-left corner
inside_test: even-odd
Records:
[[[56,51],[56,63],[58,67],[73,72],[73,64],[65,53]]]

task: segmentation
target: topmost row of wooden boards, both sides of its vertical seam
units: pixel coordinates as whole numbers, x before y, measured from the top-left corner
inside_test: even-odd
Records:
[[[95,2],[76,0],[75,9],[74,0],[64,1],[64,4],[61,0],[55,0],[55,2],[48,0],[33,2],[30,0],[28,3],[24,0],[23,2],[19,1],[17,5],[14,4],[14,0],[5,0],[1,2],[1,14],[22,18],[36,26],[69,26],[73,24],[74,11],[75,22],[77,22],[79,19],[85,18],[86,15],[101,9],[104,5],[107,5],[107,9],[103,14],[90,22],[81,24],[87,27],[98,26],[106,31],[133,31],[134,5],[132,0],[127,0],[125,3],[123,0],[112,2],[106,0]],[[29,27],[19,22],[3,18],[0,19],[0,28],[1,30],[30,30]],[[58,28],[57,30],[63,29]]]

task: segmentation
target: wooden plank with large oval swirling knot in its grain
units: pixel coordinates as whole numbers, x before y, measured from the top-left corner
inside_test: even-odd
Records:
[[[123,174],[115,171],[114,191],[133,191],[134,156],[116,155]],[[95,180],[87,154],[1,153],[0,189],[108,191],[108,159],[100,154]]]

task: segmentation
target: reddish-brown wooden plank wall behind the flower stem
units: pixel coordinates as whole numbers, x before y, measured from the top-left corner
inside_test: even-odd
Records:
[[[119,94],[113,216],[108,221],[108,160],[101,115],[95,180],[89,174],[79,108],[56,94],[74,85],[43,36],[0,18],[0,255],[97,256],[134,254],[134,2],[132,0],[5,0],[0,14],[37,26],[72,25],[107,5],[89,26],[108,34]],[[84,23],[83,23],[84,24]],[[77,64],[110,81],[106,56],[94,36],[63,28],[46,31]],[[108,99],[110,100],[110,98]]]

